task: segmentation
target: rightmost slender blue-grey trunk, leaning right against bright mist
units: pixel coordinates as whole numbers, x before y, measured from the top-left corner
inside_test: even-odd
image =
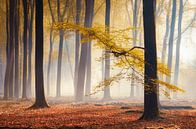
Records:
[[[178,39],[176,42],[176,64],[175,64],[175,71],[174,71],[174,84],[175,85],[178,85],[178,77],[179,77],[182,16],[183,16],[183,0],[180,0],[179,18],[178,18]],[[174,94],[174,97],[177,97],[177,94]]]

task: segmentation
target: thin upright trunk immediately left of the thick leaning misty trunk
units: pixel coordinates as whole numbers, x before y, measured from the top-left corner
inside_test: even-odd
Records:
[[[76,0],[76,24],[80,24],[81,15],[81,0]],[[74,95],[76,95],[76,86],[78,80],[78,64],[79,64],[79,52],[80,52],[80,41],[81,35],[79,31],[76,30],[76,42],[75,42],[75,70],[74,70]]]

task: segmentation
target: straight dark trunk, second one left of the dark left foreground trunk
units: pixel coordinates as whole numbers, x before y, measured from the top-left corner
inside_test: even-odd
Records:
[[[24,30],[23,30],[23,87],[22,98],[27,98],[27,23],[28,23],[28,3],[23,0]]]

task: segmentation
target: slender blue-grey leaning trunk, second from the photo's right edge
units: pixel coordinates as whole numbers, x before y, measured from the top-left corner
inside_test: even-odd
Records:
[[[170,37],[168,43],[168,61],[167,66],[170,70],[172,70],[172,59],[173,59],[173,42],[174,42],[174,31],[175,31],[175,22],[176,22],[176,0],[173,0],[172,5],[172,19],[171,19],[171,29],[170,29]],[[170,83],[171,77],[166,78],[166,82]]]

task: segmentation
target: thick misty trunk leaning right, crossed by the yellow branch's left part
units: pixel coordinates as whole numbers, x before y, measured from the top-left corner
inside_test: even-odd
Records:
[[[92,10],[94,5],[94,0],[86,0],[86,10],[85,10],[85,21],[84,27],[91,27],[92,25]],[[81,54],[80,61],[78,65],[78,80],[76,87],[76,100],[82,101],[84,97],[84,82],[86,77],[86,65],[87,65],[87,51],[88,51],[88,43],[83,43],[81,45]]]

